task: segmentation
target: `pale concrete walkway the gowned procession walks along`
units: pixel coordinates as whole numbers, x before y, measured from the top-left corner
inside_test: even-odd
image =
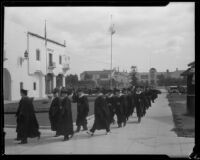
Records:
[[[94,119],[88,120],[91,128]],[[41,139],[28,139],[28,144],[19,145],[13,141],[14,128],[5,128],[5,154],[165,154],[170,157],[187,157],[194,146],[194,138],[177,137],[171,109],[166,93],[158,96],[140,124],[136,115],[129,119],[124,128],[111,125],[111,134],[97,130],[94,136],[86,132],[74,135],[69,141],[53,137],[54,132],[41,129]],[[75,128],[74,128],[75,129]]]

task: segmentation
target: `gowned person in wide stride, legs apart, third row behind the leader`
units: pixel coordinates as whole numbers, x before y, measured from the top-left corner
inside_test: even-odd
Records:
[[[98,96],[95,99],[94,124],[87,133],[93,136],[96,129],[105,129],[106,134],[110,134],[109,110],[107,108],[106,98],[104,97],[102,90],[98,91]]]

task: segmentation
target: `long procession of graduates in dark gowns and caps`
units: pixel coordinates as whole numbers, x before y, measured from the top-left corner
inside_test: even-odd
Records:
[[[117,123],[118,128],[125,127],[129,117],[135,113],[138,123],[145,116],[151,103],[160,94],[158,90],[143,86],[133,86],[126,89],[99,89],[94,101],[94,123],[90,130],[87,127],[89,113],[88,94],[78,89],[72,91],[62,88],[53,90],[53,98],[49,108],[51,130],[55,131],[54,137],[64,136],[67,141],[83,128],[91,136],[96,130],[105,129],[110,134],[110,125]],[[28,138],[40,139],[39,124],[35,116],[33,100],[27,96],[27,90],[21,90],[21,100],[16,113],[17,138],[19,144],[26,144]],[[77,103],[76,130],[73,130],[71,103]]]

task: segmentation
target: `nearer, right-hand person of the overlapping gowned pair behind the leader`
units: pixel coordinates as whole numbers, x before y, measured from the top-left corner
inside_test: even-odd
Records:
[[[63,135],[64,140],[69,140],[74,134],[73,131],[73,120],[72,120],[72,111],[71,111],[71,101],[69,99],[70,91],[66,89],[61,90],[61,105],[60,105],[60,115],[58,119],[57,126],[57,135]]]

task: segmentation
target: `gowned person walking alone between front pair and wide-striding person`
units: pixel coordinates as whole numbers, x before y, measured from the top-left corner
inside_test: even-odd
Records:
[[[83,127],[84,131],[88,130],[87,116],[89,113],[89,103],[88,103],[87,95],[82,90],[79,89],[77,97],[74,98],[74,102],[77,103],[76,132],[80,131],[81,126]]]

